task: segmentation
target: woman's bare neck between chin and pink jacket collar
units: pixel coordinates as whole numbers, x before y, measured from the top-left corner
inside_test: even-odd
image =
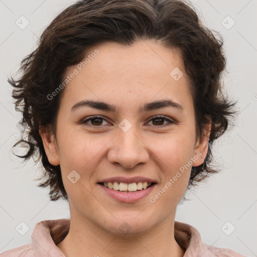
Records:
[[[68,235],[57,247],[66,257],[182,257],[185,250],[174,238],[175,215],[141,235],[115,235],[87,220],[71,215]]]

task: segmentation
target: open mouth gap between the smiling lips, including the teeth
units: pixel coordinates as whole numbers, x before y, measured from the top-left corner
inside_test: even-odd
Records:
[[[112,189],[122,193],[130,193],[136,191],[146,190],[153,185],[157,184],[156,182],[134,182],[134,183],[123,183],[123,182],[99,182],[98,184],[104,186],[105,188]]]

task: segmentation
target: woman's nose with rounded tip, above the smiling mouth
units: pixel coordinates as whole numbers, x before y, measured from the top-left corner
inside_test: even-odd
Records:
[[[133,168],[137,164],[149,161],[149,152],[146,142],[138,136],[136,129],[123,132],[118,129],[117,135],[112,140],[108,152],[108,161],[112,164],[120,164],[124,168]]]

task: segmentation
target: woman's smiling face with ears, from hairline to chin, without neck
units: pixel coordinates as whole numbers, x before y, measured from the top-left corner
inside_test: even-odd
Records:
[[[56,138],[41,132],[44,147],[50,163],[60,164],[71,218],[115,234],[122,228],[140,234],[175,217],[208,139],[196,139],[193,99],[177,50],[141,41],[98,45],[87,55],[86,64],[66,72],[73,78],[63,89]],[[120,184],[111,189],[107,182]],[[144,182],[152,184],[140,190]],[[138,190],[116,190],[127,184]]]

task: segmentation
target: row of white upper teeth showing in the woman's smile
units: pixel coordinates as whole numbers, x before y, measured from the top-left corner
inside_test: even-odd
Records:
[[[142,189],[147,189],[152,183],[150,182],[138,182],[138,183],[131,183],[131,184],[127,184],[127,183],[118,183],[118,182],[104,182],[103,183],[105,187],[110,188],[110,189],[114,189],[116,191],[130,191],[130,192],[134,192],[137,190],[142,190]]]

